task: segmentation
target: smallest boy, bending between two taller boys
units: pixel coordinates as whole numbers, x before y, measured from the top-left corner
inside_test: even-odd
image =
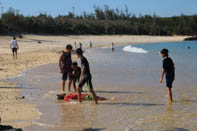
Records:
[[[73,62],[72,63],[72,76],[70,76],[70,80],[71,80],[71,83],[73,82],[73,87],[75,89],[75,92],[76,92],[76,82],[78,81],[79,82],[79,79],[80,79],[80,76],[81,76],[81,68],[78,67],[78,64],[77,62]],[[68,89],[70,91],[70,89]]]

